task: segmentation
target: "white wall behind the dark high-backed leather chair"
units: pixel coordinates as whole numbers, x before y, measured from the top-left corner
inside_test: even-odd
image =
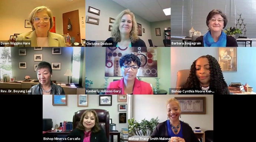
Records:
[[[128,113],[127,111],[118,111],[118,104],[125,104],[117,101],[117,95],[112,96],[112,106],[99,106],[99,95],[88,96],[88,107],[77,106],[77,95],[68,95],[68,105],[52,105],[52,95],[43,95],[43,118],[51,118],[53,127],[57,123],[70,121],[73,122],[73,114],[76,111],[84,109],[104,109],[109,111],[109,118],[116,124],[116,130],[128,128],[128,123],[119,123],[119,113]],[[127,114],[128,116],[128,114]],[[128,119],[127,121],[128,122]]]

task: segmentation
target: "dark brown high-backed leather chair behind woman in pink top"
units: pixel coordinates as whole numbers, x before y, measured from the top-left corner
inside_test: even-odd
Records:
[[[95,110],[98,118],[99,118],[99,125],[105,130],[106,132],[106,137],[109,139],[109,112],[106,110],[102,109],[92,109]],[[78,125],[79,121],[81,120],[81,117],[83,115],[83,112],[86,110],[79,110],[74,113],[73,115],[73,129],[76,128]]]

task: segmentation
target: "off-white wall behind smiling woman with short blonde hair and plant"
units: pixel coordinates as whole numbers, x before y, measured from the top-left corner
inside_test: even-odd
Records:
[[[167,120],[166,101],[174,97],[206,97],[206,114],[181,114],[181,121],[191,128],[200,127],[202,131],[213,130],[213,95],[134,95],[133,117],[139,121],[158,117],[158,122]]]

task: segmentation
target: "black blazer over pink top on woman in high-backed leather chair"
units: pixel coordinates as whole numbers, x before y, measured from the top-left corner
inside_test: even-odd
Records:
[[[73,129],[73,131],[71,131],[68,136],[80,136],[81,138],[81,142],[83,142],[83,135],[84,132],[83,130],[80,129]],[[66,141],[62,141],[62,142],[69,142],[68,140]],[[108,142],[107,138],[106,138],[106,133],[105,131],[101,128],[101,130],[99,130],[99,132],[93,133],[91,134],[90,137],[90,142]]]

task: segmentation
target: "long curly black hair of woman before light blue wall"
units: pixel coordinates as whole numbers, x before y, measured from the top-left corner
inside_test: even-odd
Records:
[[[226,94],[227,83],[224,80],[218,61],[211,55],[201,56],[199,58],[207,58],[210,66],[210,89],[216,89],[214,94]],[[199,59],[198,58],[198,59]],[[190,73],[184,88],[201,88],[200,82],[196,76],[196,59],[190,67]]]

